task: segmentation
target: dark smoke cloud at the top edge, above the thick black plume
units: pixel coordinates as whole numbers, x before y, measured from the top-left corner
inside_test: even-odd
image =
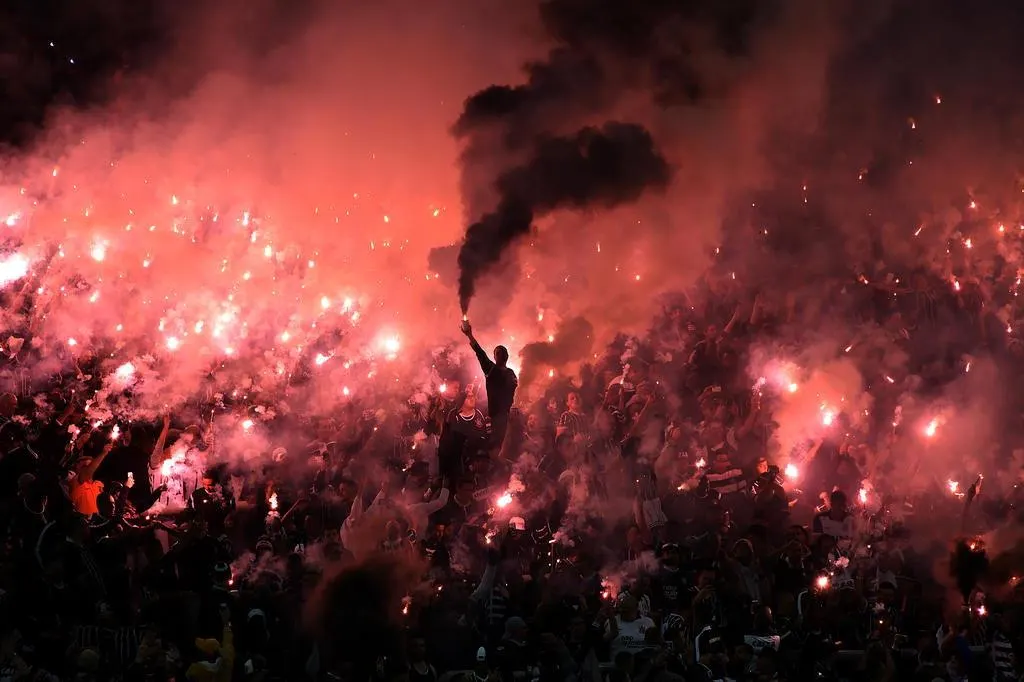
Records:
[[[754,29],[775,13],[773,3],[753,0],[547,0],[541,20],[557,47],[525,65],[524,83],[469,97],[455,133],[500,124],[501,141],[516,148],[531,134],[606,110],[632,88],[650,88],[664,106],[695,103],[720,87],[702,73],[706,52],[745,56]]]

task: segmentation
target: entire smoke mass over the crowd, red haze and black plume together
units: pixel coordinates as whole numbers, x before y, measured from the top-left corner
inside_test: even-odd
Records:
[[[1018,3],[76,4],[123,48],[3,22],[0,281],[29,381],[101,358],[96,417],[404,401],[442,381],[460,288],[529,383],[734,291],[775,321],[744,360],[780,452],[822,415],[954,433],[922,445],[950,466],[1012,440],[987,357],[1017,338]],[[545,145],[600,130],[643,151],[557,187],[587,169]],[[998,305],[936,334],[862,312],[936,288]],[[949,348],[963,379],[926,390]]]

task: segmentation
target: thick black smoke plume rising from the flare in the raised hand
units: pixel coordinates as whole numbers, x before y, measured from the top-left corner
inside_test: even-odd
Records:
[[[463,312],[479,276],[516,239],[529,233],[540,214],[560,208],[611,208],[646,189],[664,189],[672,173],[644,128],[606,123],[571,136],[541,138],[530,158],[499,176],[498,208],[466,230],[459,252],[459,302]]]

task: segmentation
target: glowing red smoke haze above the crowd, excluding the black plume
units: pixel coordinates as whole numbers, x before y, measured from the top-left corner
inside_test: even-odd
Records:
[[[848,276],[843,295],[879,278],[984,289],[1006,276],[992,258],[1017,262],[1019,140],[1008,146],[975,105],[993,89],[1012,104],[1016,77],[992,57],[982,85],[936,59],[932,43],[952,30],[941,12],[791,3],[744,14],[734,46],[716,36],[720,16],[697,12],[629,52],[573,19],[580,7],[246,5],[170,22],[152,67],[106,83],[108,103],[52,105],[6,159],[2,272],[22,303],[6,314],[34,332],[30,372],[102,348],[104,374],[131,364],[145,376],[132,410],[147,416],[202,391],[255,387],[272,402],[296,373],[318,377],[301,398],[316,411],[368,384],[436,385],[423,353],[458,335],[455,250],[495,208],[493,183],[529,140],[606,121],[645,127],[671,177],[629,201],[536,214],[481,271],[471,312],[484,345],[509,345],[517,368],[526,343],[553,346],[527,378],[642,331],[666,294],[694,304],[713,263],[720,291],[760,292],[806,323],[825,304],[823,276]],[[990,9],[970,41],[1013,52]],[[630,20],[649,28],[645,12]],[[920,35],[885,37],[919,19]],[[477,116],[464,101],[493,83],[524,84],[525,103],[455,134]],[[1011,307],[989,312],[1013,329]],[[560,322],[577,315],[592,338],[559,348]],[[848,361],[837,349],[873,334],[845,315],[823,323],[783,353],[801,371]],[[779,354],[778,340],[760,345],[751,361]],[[904,350],[882,353],[907,374]],[[862,402],[849,393],[869,381],[840,374],[835,399]]]

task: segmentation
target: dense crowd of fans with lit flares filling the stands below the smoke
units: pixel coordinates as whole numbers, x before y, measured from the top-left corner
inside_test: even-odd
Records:
[[[884,438],[843,429],[787,478],[744,370],[785,306],[712,300],[518,409],[465,325],[480,368],[427,404],[306,420],[246,466],[202,422],[113,433],[67,389],[45,421],[5,394],[0,682],[1021,679],[1017,580],[987,589],[957,540],[993,522],[980,480],[907,500]],[[391,564],[415,580],[328,597]]]

